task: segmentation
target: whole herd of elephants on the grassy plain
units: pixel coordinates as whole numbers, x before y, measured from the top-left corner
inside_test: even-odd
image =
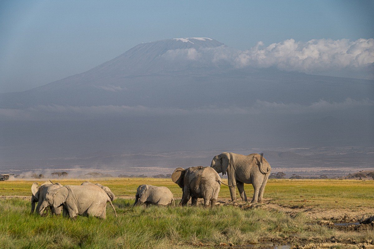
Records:
[[[210,167],[196,166],[187,169],[177,168],[171,175],[174,183],[182,189],[180,205],[196,206],[197,198],[204,200],[204,207],[214,207],[220,192],[221,181],[218,173],[227,174],[232,201],[236,201],[235,187],[239,190],[242,200],[247,201],[244,183],[252,184],[254,195],[251,203],[262,203],[263,194],[271,167],[263,155],[240,155],[236,153],[221,153],[214,156]],[[226,184],[225,184],[226,185]],[[62,214],[75,219],[77,215],[94,216],[105,219],[107,202],[110,203],[117,217],[112,201],[116,196],[111,190],[101,184],[85,181],[81,185],[62,186],[50,180],[39,186],[31,186],[31,214],[36,210],[42,216],[45,211],[52,214]],[[175,206],[175,199],[167,187],[157,187],[143,184],[137,189],[134,206],[138,205]]]

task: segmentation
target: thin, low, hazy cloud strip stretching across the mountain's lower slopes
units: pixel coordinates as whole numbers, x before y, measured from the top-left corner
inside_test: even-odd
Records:
[[[175,115],[258,115],[258,114],[306,114],[327,113],[336,111],[373,108],[373,100],[353,100],[347,98],[343,102],[327,102],[319,100],[310,105],[297,103],[276,103],[257,100],[253,106],[217,107],[202,106],[199,108],[152,108],[147,106],[61,106],[38,105],[27,109],[0,109],[3,120],[39,120],[39,119],[91,119],[99,117],[119,116],[175,116]]]

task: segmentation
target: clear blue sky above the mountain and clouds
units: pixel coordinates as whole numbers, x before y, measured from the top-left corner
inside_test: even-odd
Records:
[[[77,74],[147,42],[210,37],[246,50],[374,38],[374,1],[0,1],[0,92]]]

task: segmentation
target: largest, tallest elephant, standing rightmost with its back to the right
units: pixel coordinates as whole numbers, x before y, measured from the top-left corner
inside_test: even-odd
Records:
[[[263,203],[263,194],[269,178],[270,164],[259,154],[240,155],[224,152],[213,158],[211,167],[229,180],[231,199],[236,201],[235,185],[242,200],[248,201],[244,191],[244,183],[252,184],[254,194],[251,203]]]

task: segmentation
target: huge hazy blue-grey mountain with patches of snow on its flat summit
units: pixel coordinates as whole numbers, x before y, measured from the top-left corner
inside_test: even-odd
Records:
[[[174,38],[0,94],[0,158],[5,164],[96,151],[374,146],[373,80],[239,62],[238,50],[214,39]]]

